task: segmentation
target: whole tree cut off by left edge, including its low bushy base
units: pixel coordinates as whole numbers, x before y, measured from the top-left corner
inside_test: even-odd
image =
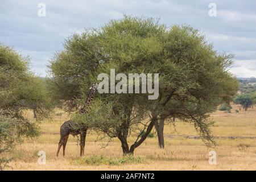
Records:
[[[13,150],[23,138],[39,135],[38,125],[25,119],[23,110],[35,109],[39,118],[47,117],[51,111],[44,99],[46,92],[36,86],[37,78],[29,71],[28,62],[28,57],[0,45],[0,154]],[[32,102],[38,105],[32,107]],[[0,169],[7,162],[9,159],[1,158]]]

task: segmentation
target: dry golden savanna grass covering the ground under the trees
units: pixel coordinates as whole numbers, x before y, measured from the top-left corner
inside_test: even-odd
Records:
[[[231,113],[216,111],[211,117],[216,121],[212,127],[218,146],[207,148],[201,139],[185,138],[172,135],[197,136],[189,123],[177,122],[164,128],[165,148],[158,148],[156,137],[147,138],[135,150],[135,158],[122,163],[122,148],[118,139],[108,143],[108,139],[97,140],[97,135],[89,133],[86,137],[85,157],[80,158],[77,138],[69,137],[66,156],[62,150],[56,158],[61,123],[67,115],[56,114],[53,121],[40,124],[42,135],[35,140],[26,140],[18,146],[9,166],[14,170],[255,170],[256,169],[256,107],[246,112],[233,105]],[[60,113],[61,111],[57,111]],[[32,114],[27,113],[28,118]],[[133,142],[137,134],[131,135]],[[245,138],[230,138],[245,137]],[[248,138],[255,137],[255,138]],[[106,146],[106,143],[108,145]],[[38,152],[46,152],[46,164],[38,164]],[[217,152],[217,164],[208,163],[209,151]]]

